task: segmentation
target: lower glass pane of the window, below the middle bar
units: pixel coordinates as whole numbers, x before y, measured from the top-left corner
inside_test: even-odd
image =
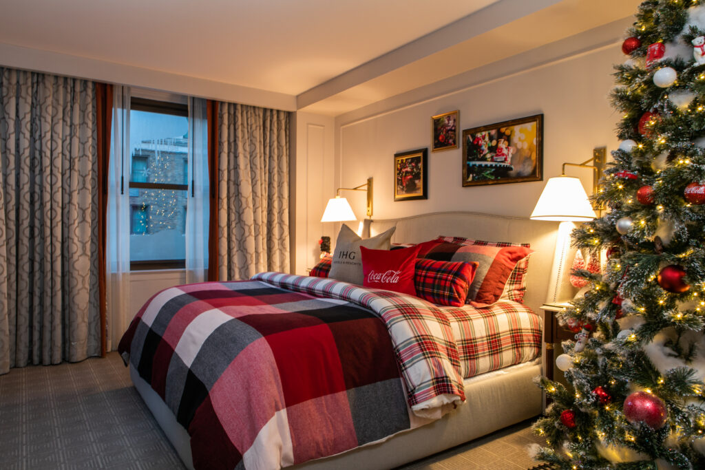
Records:
[[[186,197],[183,190],[130,190],[130,261],[185,259]],[[144,209],[143,209],[144,208]]]

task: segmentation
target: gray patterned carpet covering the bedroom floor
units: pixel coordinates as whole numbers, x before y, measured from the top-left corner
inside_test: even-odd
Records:
[[[403,466],[527,469],[529,422]],[[116,352],[0,376],[0,469],[184,469]]]

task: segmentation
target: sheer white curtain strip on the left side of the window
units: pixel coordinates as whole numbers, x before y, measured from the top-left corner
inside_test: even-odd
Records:
[[[124,176],[124,181],[123,181]],[[115,350],[133,315],[130,311],[130,88],[113,92],[113,131],[108,175],[106,237],[107,350]]]

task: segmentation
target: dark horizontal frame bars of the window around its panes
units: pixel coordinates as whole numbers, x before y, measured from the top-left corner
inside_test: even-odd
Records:
[[[171,114],[173,116],[183,116],[188,119],[188,104],[171,103],[168,101],[157,101],[154,99],[146,99],[139,97],[130,97],[130,111],[146,111],[148,113]],[[190,139],[191,136],[189,135]],[[188,161],[188,154],[187,154]],[[188,163],[187,163],[188,168]],[[130,168],[131,170],[131,168]],[[145,190],[176,190],[185,191],[188,198],[188,176],[187,183],[183,185],[174,183],[137,183],[132,181],[132,171],[128,176],[129,189],[145,189]],[[131,214],[130,214],[131,218]],[[132,221],[130,221],[130,235],[132,233]],[[149,232],[147,232],[149,233]],[[130,259],[130,271],[148,271],[159,269],[184,269],[186,267],[185,259],[145,259],[141,261],[133,261]]]

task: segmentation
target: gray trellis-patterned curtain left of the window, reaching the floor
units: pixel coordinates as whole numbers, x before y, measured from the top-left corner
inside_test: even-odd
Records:
[[[94,96],[0,68],[0,373],[101,352]]]

